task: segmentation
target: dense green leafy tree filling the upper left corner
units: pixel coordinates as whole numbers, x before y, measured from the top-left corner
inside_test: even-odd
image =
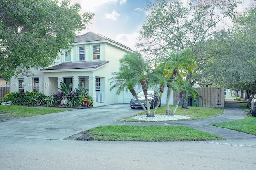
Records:
[[[0,71],[4,79],[32,75],[30,68],[48,67],[74,43],[76,31],[94,16],[79,14],[69,0],[0,1]]]

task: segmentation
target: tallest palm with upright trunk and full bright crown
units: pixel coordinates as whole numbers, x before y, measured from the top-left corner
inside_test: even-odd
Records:
[[[184,49],[180,52],[164,51],[162,57],[164,57],[165,60],[163,60],[164,62],[160,65],[160,68],[163,71],[164,77],[169,79],[169,81],[170,79],[174,81],[178,72],[180,72],[180,74],[183,74],[184,71],[190,71],[193,73],[192,69],[197,67],[196,62],[192,58],[191,49]],[[166,115],[172,115],[169,106],[172,85],[167,84],[167,90]]]

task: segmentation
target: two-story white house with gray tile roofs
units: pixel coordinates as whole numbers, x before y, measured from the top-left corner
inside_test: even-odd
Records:
[[[66,85],[85,84],[94,99],[94,107],[115,103],[130,103],[131,93],[116,96],[110,93],[108,79],[112,72],[119,71],[119,60],[132,49],[111,40],[101,34],[87,32],[77,36],[71,53],[60,55],[55,65],[49,68],[33,70],[33,77],[12,77],[11,91],[41,91],[52,95],[60,91],[60,82]],[[64,51],[65,53],[65,51]]]

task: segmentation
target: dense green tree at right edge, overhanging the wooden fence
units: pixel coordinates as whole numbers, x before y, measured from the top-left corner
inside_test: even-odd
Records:
[[[251,8],[233,20],[232,29],[202,43],[204,69],[196,76],[201,82],[212,81],[234,90],[256,91],[256,8]]]

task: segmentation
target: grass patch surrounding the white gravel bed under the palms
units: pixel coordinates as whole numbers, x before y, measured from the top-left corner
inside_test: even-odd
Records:
[[[174,105],[170,105],[171,111],[173,111],[174,108],[175,108]],[[153,112],[153,109],[151,111]],[[215,108],[215,107],[188,106],[188,109],[181,109],[181,106],[179,106],[175,112],[175,115],[188,116],[190,117],[190,119],[203,119],[208,117],[215,117],[215,116],[221,115],[222,113],[223,113],[223,108],[217,108],[217,107]],[[166,106],[158,107],[158,109],[156,110],[156,115],[165,115],[165,114],[166,114]],[[141,113],[138,113],[134,116],[137,116],[137,115],[146,116],[146,113],[142,110]],[[118,121],[143,122],[142,120],[131,119],[131,117],[125,117]]]

